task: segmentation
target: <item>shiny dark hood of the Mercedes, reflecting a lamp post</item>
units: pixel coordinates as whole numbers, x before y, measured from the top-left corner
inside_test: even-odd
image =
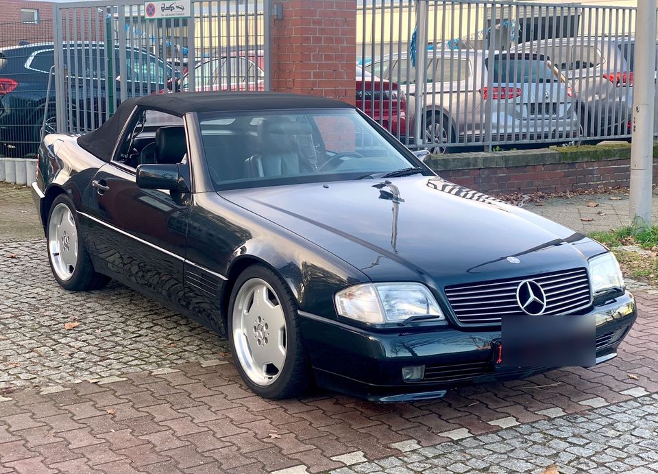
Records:
[[[587,257],[605,251],[581,233],[441,178],[220,194],[332,252],[373,281],[443,287],[583,267]]]

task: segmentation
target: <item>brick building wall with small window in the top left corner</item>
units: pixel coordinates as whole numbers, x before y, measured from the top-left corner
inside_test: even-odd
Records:
[[[38,23],[21,23],[21,8],[38,10]],[[51,3],[0,0],[0,12],[0,46],[14,46],[21,41],[43,43],[53,40]]]

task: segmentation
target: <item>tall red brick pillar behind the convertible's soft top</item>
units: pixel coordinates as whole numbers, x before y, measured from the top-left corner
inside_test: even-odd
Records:
[[[356,0],[280,0],[271,20],[271,89],[354,105]]]

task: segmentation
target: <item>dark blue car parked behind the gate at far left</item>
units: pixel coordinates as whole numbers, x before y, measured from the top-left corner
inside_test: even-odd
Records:
[[[110,55],[103,43],[75,43],[62,48],[67,72],[69,119],[89,130],[107,119],[108,64],[112,68],[112,88],[121,81],[119,47]],[[145,49],[126,51],[127,94],[158,93],[175,83],[178,71]],[[44,119],[48,80],[54,64],[53,43],[38,43],[0,49],[0,153],[23,156],[36,152]],[[46,130],[56,126],[55,78],[51,82]],[[114,93],[119,104],[119,93]]]

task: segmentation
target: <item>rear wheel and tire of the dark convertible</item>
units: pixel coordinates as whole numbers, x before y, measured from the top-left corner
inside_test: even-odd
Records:
[[[55,198],[46,224],[48,261],[57,283],[71,292],[99,289],[110,277],[94,270],[89,253],[80,236],[80,222],[75,205],[66,194]]]

